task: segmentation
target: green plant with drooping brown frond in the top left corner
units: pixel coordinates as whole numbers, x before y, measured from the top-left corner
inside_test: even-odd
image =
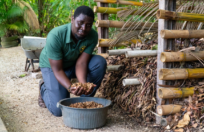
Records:
[[[0,36],[25,33],[29,27],[39,28],[36,15],[29,4],[22,0],[0,1]]]

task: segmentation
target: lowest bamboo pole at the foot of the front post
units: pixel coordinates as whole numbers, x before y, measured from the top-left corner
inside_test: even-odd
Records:
[[[182,106],[181,105],[158,105],[157,106],[157,113],[159,115],[171,115],[180,112]]]

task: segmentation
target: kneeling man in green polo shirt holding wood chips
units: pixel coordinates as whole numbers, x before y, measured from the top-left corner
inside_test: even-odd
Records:
[[[87,6],[76,9],[72,21],[52,29],[46,46],[40,55],[43,81],[40,81],[38,104],[48,108],[55,116],[61,116],[56,107],[58,101],[69,98],[70,93],[93,97],[106,70],[106,60],[92,52],[98,42],[98,34],[92,29],[93,10]],[[81,83],[95,84],[88,92],[82,87],[71,87],[71,78]]]

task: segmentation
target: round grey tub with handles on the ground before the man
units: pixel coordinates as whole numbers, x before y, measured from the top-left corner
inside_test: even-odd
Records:
[[[68,107],[70,104],[94,101],[102,104],[103,108],[81,109]],[[105,125],[108,107],[111,101],[95,97],[78,97],[60,100],[57,107],[62,110],[63,122],[66,126],[76,129],[94,129]]]

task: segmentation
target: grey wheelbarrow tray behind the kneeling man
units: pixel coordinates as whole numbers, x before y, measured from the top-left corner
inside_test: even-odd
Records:
[[[46,38],[24,36],[21,47],[28,59],[39,59],[42,49],[46,45]]]

